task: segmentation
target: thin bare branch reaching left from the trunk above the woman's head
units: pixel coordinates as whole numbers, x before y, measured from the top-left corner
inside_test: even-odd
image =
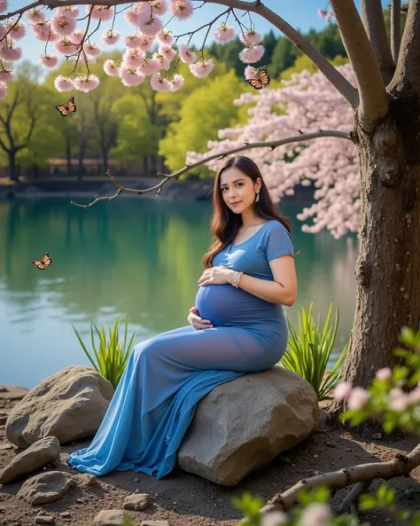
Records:
[[[142,193],[148,193],[148,192],[154,192],[156,190],[156,195],[159,195],[159,193],[162,190],[162,186],[167,183],[170,179],[177,179],[178,177],[182,176],[183,174],[191,171],[191,169],[194,169],[198,166],[201,166],[202,164],[206,164],[208,161],[213,161],[214,159],[220,158],[223,159],[227,155],[230,155],[231,153],[237,153],[237,152],[243,152],[244,150],[250,150],[252,148],[270,148],[271,152],[275,150],[278,146],[282,145],[289,145],[291,143],[296,142],[306,142],[307,140],[317,138],[317,137],[338,137],[338,138],[345,138],[348,140],[352,140],[352,137],[350,133],[346,131],[340,131],[340,130],[318,130],[312,133],[302,133],[297,136],[293,137],[284,137],[281,139],[277,139],[275,141],[266,141],[266,142],[259,142],[259,143],[245,143],[244,145],[237,146],[236,148],[232,148],[231,150],[227,150],[223,153],[214,153],[213,155],[209,155],[208,157],[205,157],[204,159],[201,159],[200,161],[194,162],[193,164],[187,164],[183,167],[183,169],[179,169],[173,174],[162,174],[161,172],[158,172],[158,176],[163,176],[164,178],[160,181],[159,184],[155,184],[154,186],[151,186],[150,188],[145,188],[144,190],[138,190],[137,188],[126,188],[125,186],[122,186],[118,181],[113,177],[111,172],[108,170],[106,172],[107,177],[111,179],[113,184],[115,184],[117,188],[117,192],[115,192],[113,195],[110,196],[101,196],[101,197],[95,197],[95,200],[91,201],[87,205],[81,205],[79,203],[76,203],[74,201],[71,201],[72,205],[75,205],[76,207],[81,208],[90,208],[94,204],[96,204],[100,200],[113,200],[116,197],[118,197],[122,192],[131,192],[136,193],[137,195],[141,195]]]

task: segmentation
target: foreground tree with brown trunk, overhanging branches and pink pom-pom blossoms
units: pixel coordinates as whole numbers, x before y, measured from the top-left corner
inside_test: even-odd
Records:
[[[125,17],[133,32],[123,38],[125,51],[121,60],[107,62],[105,73],[119,76],[127,86],[147,81],[160,91],[182,89],[184,78],[176,73],[179,61],[189,65],[191,75],[203,77],[211,73],[214,63],[205,52],[210,31],[218,42],[229,41],[237,31],[244,43],[240,59],[247,65],[264,54],[261,35],[254,26],[259,17],[288,37],[331,82],[354,114],[353,130],[347,135],[359,160],[360,250],[355,269],[354,327],[344,380],[365,387],[375,369],[394,363],[392,351],[401,326],[416,329],[420,320],[420,0],[409,0],[402,7],[401,0],[391,0],[389,39],[380,0],[361,0],[362,16],[354,0],[330,0],[331,12],[323,14],[334,16],[338,22],[354,81],[331,65],[282,18],[281,3],[273,11],[262,0],[38,0],[11,12],[7,4],[8,0],[0,0],[0,98],[6,96],[7,82],[13,75],[11,64],[22,56],[19,39],[27,30],[46,44],[41,58],[44,66],[54,66],[57,54],[69,59],[68,75],[55,82],[61,91],[97,88],[99,79],[89,72],[89,64],[99,51],[94,38],[100,35],[103,46],[122,38],[113,28],[117,16]],[[194,10],[203,4],[218,5],[220,12],[202,27],[191,28]],[[407,10],[402,32],[401,9]],[[249,24],[243,14],[249,15]],[[170,32],[171,17],[186,21],[185,33]],[[97,33],[99,30],[102,33]],[[191,47],[191,38],[198,32],[204,37],[201,48],[196,50]],[[158,51],[151,52],[154,43],[158,43]],[[250,70],[247,72],[249,75]],[[325,137],[341,140],[346,135],[340,130],[300,131],[296,136],[263,143],[247,142],[224,155],[253,148],[301,145]],[[324,150],[324,155],[328,154]],[[218,157],[219,153],[209,155],[198,163]],[[159,184],[143,191],[125,188],[109,174],[117,191],[97,200],[113,199],[121,192],[159,194],[168,180],[195,166],[188,164],[173,174],[159,173]],[[350,201],[347,204],[356,206]],[[333,412],[340,409],[341,403]]]

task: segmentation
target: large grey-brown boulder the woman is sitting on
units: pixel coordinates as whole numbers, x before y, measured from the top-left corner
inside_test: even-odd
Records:
[[[306,438],[319,424],[315,390],[273,367],[217,386],[202,398],[178,451],[178,465],[233,486]]]

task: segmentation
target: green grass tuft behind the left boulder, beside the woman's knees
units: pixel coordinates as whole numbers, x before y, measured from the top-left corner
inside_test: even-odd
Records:
[[[106,380],[113,384],[113,388],[117,389],[118,382],[121,379],[128,357],[133,348],[134,339],[136,333],[131,335],[129,342],[127,342],[127,331],[128,331],[128,318],[127,314],[125,317],[125,330],[124,340],[120,342],[119,334],[119,318],[116,318],[113,329],[109,328],[109,341],[106,340],[105,328],[101,326],[100,330],[97,326],[90,324],[90,341],[92,344],[93,356],[89,353],[85,344],[82,342],[82,338],[73,326],[74,333],[77,336],[85,355],[89,358],[89,362],[93,365],[97,373],[102,374]],[[95,329],[95,331],[94,331]],[[95,333],[99,338],[98,348],[95,343]]]

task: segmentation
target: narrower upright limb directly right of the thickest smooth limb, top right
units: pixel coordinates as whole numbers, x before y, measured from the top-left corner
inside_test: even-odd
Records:
[[[393,78],[395,62],[386,35],[381,0],[362,0],[362,20],[386,86]]]

